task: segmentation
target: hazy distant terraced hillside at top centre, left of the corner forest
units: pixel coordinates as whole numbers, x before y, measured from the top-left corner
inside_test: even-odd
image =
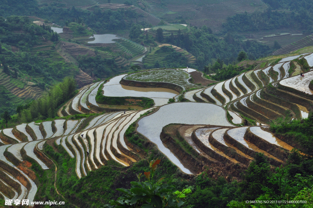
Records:
[[[197,27],[206,25],[213,31],[222,29],[222,23],[229,16],[266,9],[266,5],[260,0],[168,0],[162,3],[157,0],[145,0],[141,2],[146,11],[169,23],[181,19],[180,16],[183,15],[191,25]]]

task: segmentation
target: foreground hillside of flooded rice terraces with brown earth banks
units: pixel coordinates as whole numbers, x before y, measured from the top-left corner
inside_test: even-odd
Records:
[[[256,153],[264,153],[270,164],[280,166],[286,162],[295,144],[276,138],[265,124],[277,117],[301,119],[308,115],[313,106],[313,92],[309,87],[313,72],[307,71],[304,77],[300,77],[297,71],[286,65],[291,66],[290,62],[300,58],[312,66],[312,57],[311,53],[286,57],[276,65],[250,70],[230,80],[197,89],[192,89],[192,83],[188,82],[188,72],[194,72],[193,69],[152,71],[162,75],[163,80],[171,73],[186,75],[180,83],[171,80],[165,86],[166,82],[159,82],[163,87],[176,86],[180,92],[190,89],[181,95],[162,91],[160,86],[124,85],[123,88],[120,83],[122,80],[136,83],[139,78],[141,83],[145,82],[144,79],[151,83],[151,71],[119,75],[107,82],[84,86],[59,110],[59,116],[102,112],[103,106],[96,102],[98,92],[103,92],[103,96],[125,97],[134,93],[133,96],[151,97],[155,99],[155,106],[160,107],[125,111],[112,108],[80,120],[56,119],[2,129],[0,178],[7,188],[0,193],[8,199],[34,200],[40,184],[36,173],[29,167],[36,164],[43,171],[55,169],[54,162],[44,153],[46,143],[64,149],[75,159],[78,179],[106,165],[108,160],[129,166],[143,159],[142,150],[125,136],[134,122],[137,122],[136,131],[142,138],[155,143],[158,150],[187,174],[198,174],[209,166],[217,171],[232,167],[236,175],[237,170],[249,165]],[[155,97],[157,95],[160,97]],[[165,104],[168,96],[182,96],[192,102]],[[157,104],[159,99],[163,103]],[[149,111],[153,112],[141,117]],[[262,126],[242,126],[242,116],[254,119]]]

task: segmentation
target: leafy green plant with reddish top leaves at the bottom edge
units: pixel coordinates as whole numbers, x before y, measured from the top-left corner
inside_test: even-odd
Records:
[[[181,207],[184,202],[182,199],[187,194],[191,193],[190,189],[183,189],[182,191],[176,190],[173,185],[163,184],[161,181],[164,178],[158,180],[154,179],[154,174],[157,165],[160,164],[159,159],[151,160],[149,164],[150,171],[144,172],[146,181],[140,182],[141,173],[137,175],[138,182],[132,181],[131,189],[120,188],[117,189],[124,193],[116,201],[110,200],[110,205],[106,204],[104,207],[112,208],[171,208]]]

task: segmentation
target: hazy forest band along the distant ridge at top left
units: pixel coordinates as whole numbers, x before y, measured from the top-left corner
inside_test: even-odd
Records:
[[[63,26],[70,22],[85,23],[100,34],[105,33],[107,30],[129,29],[131,24],[136,22],[139,15],[131,9],[117,11],[102,10],[97,7],[93,11],[75,7],[69,9],[64,8],[62,3],[51,3],[39,7],[36,0],[25,0],[23,2],[17,0],[16,3],[1,0],[0,4],[0,13],[3,17],[14,14],[36,16],[49,19],[49,21]],[[141,24],[149,26],[145,22],[141,22]]]

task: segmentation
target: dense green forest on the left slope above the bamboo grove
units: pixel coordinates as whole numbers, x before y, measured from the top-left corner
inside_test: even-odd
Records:
[[[36,84],[44,89],[55,80],[61,81],[66,75],[77,73],[74,65],[55,61],[52,51],[32,52],[35,45],[58,41],[58,35],[49,26],[35,25],[27,17],[9,16],[6,20],[0,17],[0,27],[3,46],[0,61],[6,74],[14,78],[37,78]],[[19,51],[13,52],[14,47]]]

